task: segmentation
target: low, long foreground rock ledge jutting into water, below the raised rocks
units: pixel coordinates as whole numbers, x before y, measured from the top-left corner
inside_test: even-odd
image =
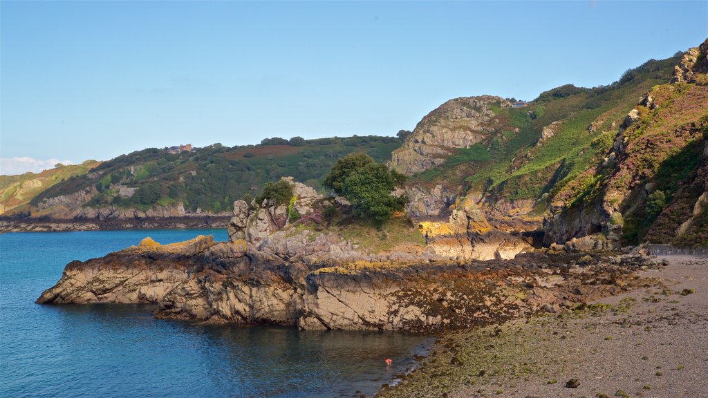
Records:
[[[163,246],[148,238],[69,263],[38,302],[154,303],[156,317],[208,323],[434,331],[609,295],[632,280],[630,268],[592,259],[569,272],[576,259],[529,254],[503,262],[328,266],[263,254],[241,239]]]

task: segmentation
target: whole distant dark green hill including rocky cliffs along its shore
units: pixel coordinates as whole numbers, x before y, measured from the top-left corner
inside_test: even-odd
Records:
[[[31,198],[35,218],[228,215],[234,200],[256,195],[267,181],[293,175],[319,188],[336,159],[365,152],[383,161],[400,144],[395,137],[295,137],[266,139],[256,146],[214,144],[176,154],[150,148],[105,161],[25,198]]]

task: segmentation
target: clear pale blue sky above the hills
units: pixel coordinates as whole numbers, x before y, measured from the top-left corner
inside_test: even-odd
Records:
[[[4,0],[0,174],[186,143],[395,135],[450,98],[610,84],[707,37],[705,0]]]

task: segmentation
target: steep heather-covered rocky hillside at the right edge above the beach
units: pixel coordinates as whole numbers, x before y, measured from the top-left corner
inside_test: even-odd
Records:
[[[708,246],[708,40],[629,112],[604,159],[559,190],[548,242],[601,234]]]

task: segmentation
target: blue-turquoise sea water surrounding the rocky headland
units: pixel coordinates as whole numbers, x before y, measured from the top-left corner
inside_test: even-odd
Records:
[[[203,326],[147,305],[37,305],[64,266],[223,229],[0,234],[0,397],[351,397],[413,365],[427,339]],[[384,358],[393,358],[387,368]]]

